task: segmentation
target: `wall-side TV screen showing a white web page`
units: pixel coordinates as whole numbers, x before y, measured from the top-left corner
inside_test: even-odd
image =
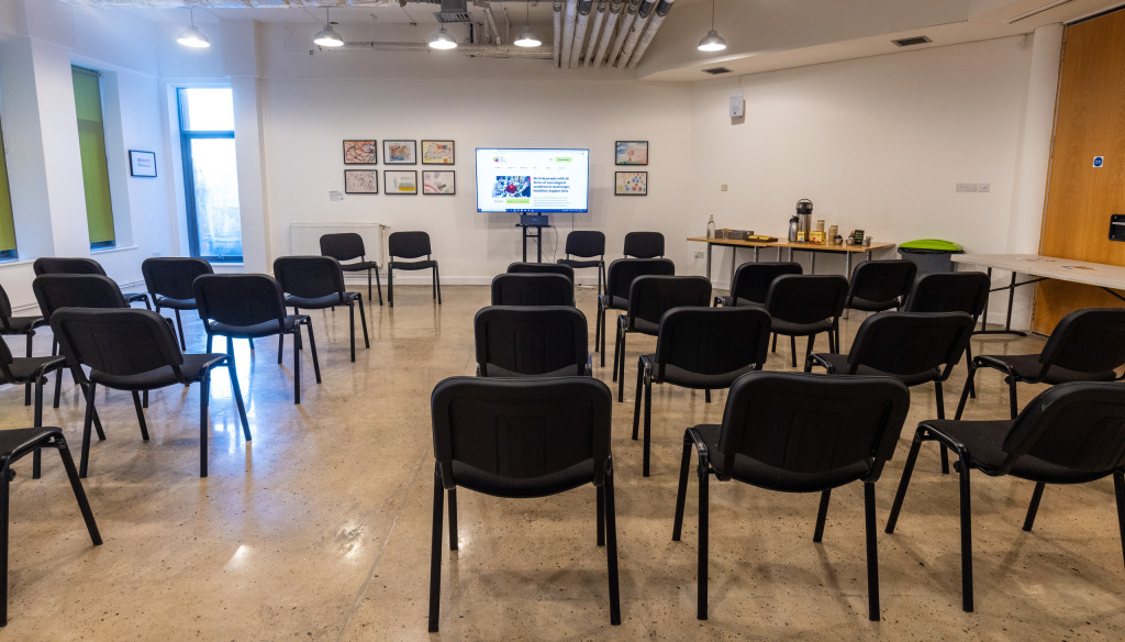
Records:
[[[588,212],[590,150],[477,149],[477,212]]]

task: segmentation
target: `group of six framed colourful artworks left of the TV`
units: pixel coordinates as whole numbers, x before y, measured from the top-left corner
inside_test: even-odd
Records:
[[[421,152],[422,164],[451,166],[456,161],[453,141],[385,139],[381,145],[382,164],[418,164]],[[345,140],[343,142],[345,166],[371,166],[379,163],[380,145],[375,139]],[[412,196],[418,193],[417,170],[382,170],[384,194]],[[344,194],[379,194],[379,170],[345,169]],[[423,170],[422,194],[453,195],[457,194],[457,172],[447,170]]]

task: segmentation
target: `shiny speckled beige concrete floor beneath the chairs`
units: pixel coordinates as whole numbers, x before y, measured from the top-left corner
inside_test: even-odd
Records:
[[[430,392],[474,372],[472,314],[488,288],[399,287],[394,310],[369,307],[371,348],[348,358],[346,311],[313,314],[322,385],[303,367],[292,404],[291,342],[251,356],[237,346],[253,440],[243,439],[225,374],[213,384],[210,476],[198,476],[198,387],[153,393],[152,438],[140,438],[127,394],[99,408],[108,439],[92,447],[87,492],[105,538],[91,546],[53,453],[42,480],[18,464],[11,487],[9,624],[0,640],[1070,640],[1125,637],[1125,567],[1109,480],[1048,487],[1032,533],[1020,529],[1032,484],[976,474],[976,612],[961,610],[957,482],[928,444],[899,526],[879,534],[882,622],[866,616],[863,500],[832,494],[824,542],[817,496],[711,485],[711,618],[695,619],[696,501],[672,542],[682,435],[718,422],[724,393],[657,386],[652,475],[629,438],[636,355],[615,404],[620,627],[610,626],[594,491],[534,500],[459,493],[460,550],[443,552],[441,633],[426,632],[433,455]],[[592,289],[579,307],[593,321]],[[862,315],[844,323],[850,345]],[[611,322],[612,327],[612,322]],[[202,349],[198,320],[189,348]],[[591,323],[593,330],[593,323]],[[593,338],[593,331],[591,332]],[[50,333],[37,339],[45,354]],[[1038,351],[1041,338],[989,337],[974,354]],[[16,346],[17,350],[21,348]],[[826,347],[821,339],[821,349]],[[612,356],[612,341],[610,345]],[[595,365],[596,365],[595,358]],[[790,369],[778,346],[767,369]],[[609,367],[595,376],[610,381]],[[996,373],[980,377],[968,418],[1005,418]],[[947,386],[951,413],[964,381]],[[46,423],[75,456],[81,404],[66,385]],[[1025,386],[1020,402],[1040,390]],[[907,427],[878,484],[885,524],[910,436],[935,417],[932,386],[915,389]],[[32,423],[22,390],[0,389],[2,426]],[[794,400],[800,403],[800,400]],[[48,404],[50,405],[50,404]]]

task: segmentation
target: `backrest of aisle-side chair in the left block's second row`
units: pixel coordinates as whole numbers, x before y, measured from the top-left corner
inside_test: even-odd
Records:
[[[264,274],[205,274],[192,285],[199,318],[227,326],[285,320],[281,285]]]

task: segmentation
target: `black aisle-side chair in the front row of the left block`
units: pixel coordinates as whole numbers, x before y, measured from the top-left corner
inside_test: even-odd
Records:
[[[358,237],[359,234],[357,234]],[[332,257],[278,257],[273,261],[273,277],[281,284],[285,304],[295,314],[300,309],[326,310],[336,305],[348,306],[348,337],[351,359],[356,360],[356,306],[359,305],[360,324],[363,327],[363,347],[370,348],[367,336],[367,313],[363,295],[344,289],[344,273],[340,261]],[[278,335],[278,353],[284,347],[285,335]]]

